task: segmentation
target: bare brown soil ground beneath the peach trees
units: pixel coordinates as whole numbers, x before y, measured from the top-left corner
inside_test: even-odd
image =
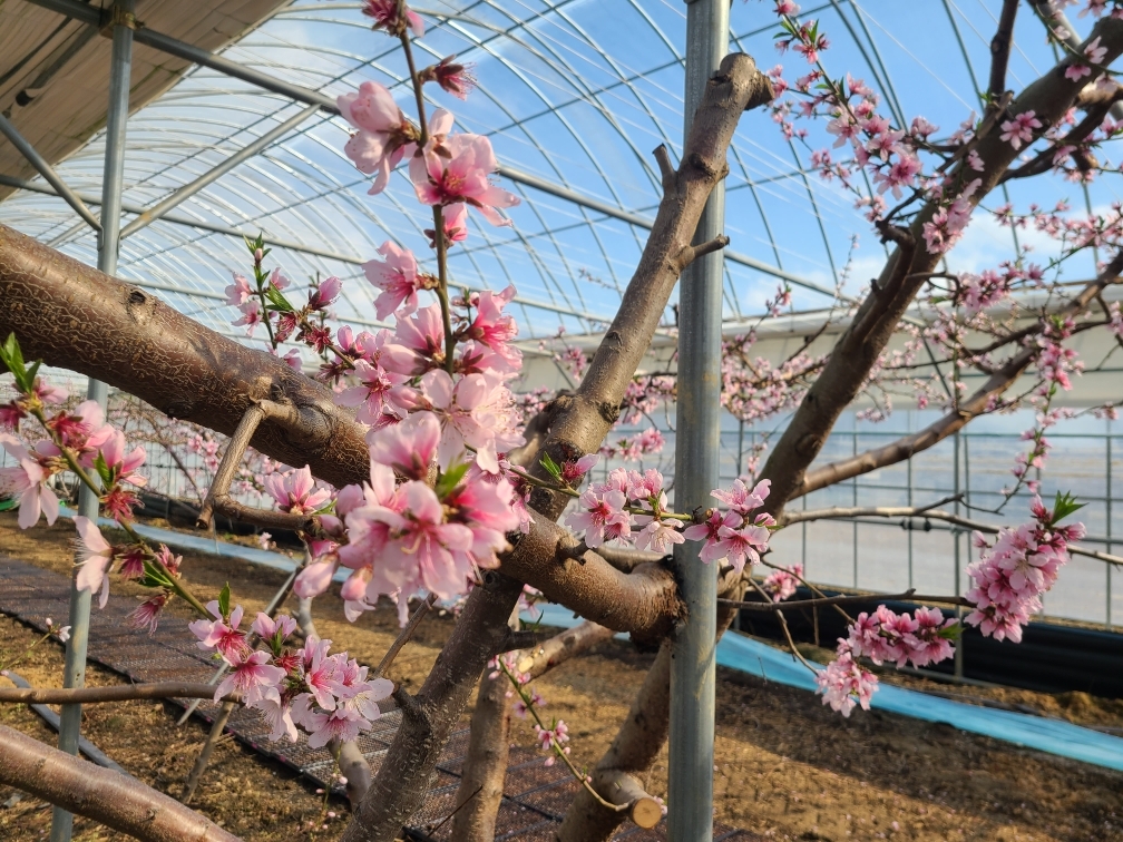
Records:
[[[0,551],[69,573],[73,527],[20,532],[0,516]],[[281,585],[282,574],[234,559],[184,553],[184,576],[209,598],[229,582],[247,610],[259,608]],[[112,597],[135,600],[139,588],[113,582]],[[164,622],[182,622],[173,612]],[[64,620],[64,617],[56,617]],[[392,608],[347,623],[330,595],[317,601],[320,633],[360,660],[376,661],[396,634]],[[392,676],[419,685],[455,620],[428,617],[403,650]],[[0,662],[36,635],[0,617]],[[537,683],[546,713],[570,725],[573,757],[591,765],[626,715],[651,656],[610,641],[563,665]],[[57,686],[62,649],[47,642],[18,667],[33,685]],[[120,678],[99,669],[91,684]],[[1123,702],[1086,694],[1049,695],[1014,689],[957,688],[913,677],[894,680],[917,689],[961,693],[1030,705],[1048,715],[1101,727],[1123,726]],[[177,795],[207,727],[176,727],[179,708],[154,703],[88,706],[84,734],[140,780]],[[46,742],[54,734],[24,706],[0,708],[0,722]],[[513,739],[533,744],[517,721]],[[1123,840],[1123,774],[1067,761],[947,725],[877,712],[842,719],[809,693],[719,670],[715,817],[777,840],[998,840],[1001,842],[1110,842]],[[666,750],[647,784],[666,791]],[[47,805],[0,787],[0,839],[46,838]],[[291,772],[234,742],[220,744],[192,802],[212,820],[247,840],[337,839],[346,805],[325,805],[322,795]],[[314,831],[309,823],[314,824]],[[326,826],[325,826],[326,825]],[[84,820],[75,839],[110,840],[119,834]]]

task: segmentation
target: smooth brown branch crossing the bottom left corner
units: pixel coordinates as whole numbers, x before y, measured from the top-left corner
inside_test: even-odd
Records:
[[[102,769],[0,725],[0,782],[145,842],[237,842],[136,778]]]

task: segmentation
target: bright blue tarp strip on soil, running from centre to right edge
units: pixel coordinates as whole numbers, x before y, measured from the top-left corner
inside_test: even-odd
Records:
[[[540,607],[544,625],[570,628],[582,622],[560,606]],[[535,620],[529,614],[524,619]],[[736,632],[722,635],[718,643],[718,663],[777,684],[815,689],[814,676],[789,652]],[[870,704],[878,711],[925,722],[944,722],[961,731],[1123,771],[1123,739],[1069,722],[953,702],[887,684],[880,685]],[[860,716],[861,711],[852,715]]]

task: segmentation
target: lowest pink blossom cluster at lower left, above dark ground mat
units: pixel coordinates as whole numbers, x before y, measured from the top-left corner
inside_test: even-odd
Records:
[[[310,635],[304,646],[286,646],[295,631],[287,615],[258,613],[248,632],[243,630],[240,605],[229,607],[229,588],[207,604],[213,619],[190,623],[199,648],[216,653],[229,668],[214,690],[214,701],[238,693],[243,703],[258,711],[270,724],[271,740],[296,741],[296,725],[308,744],[320,748],[331,740],[347,742],[371,730],[378,719],[378,702],[393,692],[393,683],[368,678],[367,668],[346,652],[329,655],[330,640]],[[258,649],[254,641],[266,648]]]

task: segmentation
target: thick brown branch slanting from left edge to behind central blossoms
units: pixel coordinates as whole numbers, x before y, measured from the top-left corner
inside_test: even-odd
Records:
[[[287,401],[252,446],[343,486],[369,472],[363,428],[331,391],[283,360],[208,330],[152,294],[0,226],[0,335],[43,359],[230,436],[255,402]]]

